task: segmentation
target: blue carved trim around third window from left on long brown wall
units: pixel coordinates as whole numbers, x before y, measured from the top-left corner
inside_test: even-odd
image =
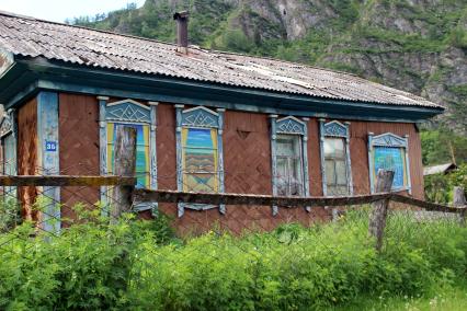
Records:
[[[271,118],[271,163],[272,163],[272,192],[273,196],[277,195],[277,135],[298,135],[301,137],[301,184],[304,196],[310,195],[309,174],[308,174],[308,126],[309,118],[304,117],[301,120],[294,116],[277,118],[277,115],[270,115]],[[310,207],[306,207],[310,211]],[[272,206],[272,214],[278,214],[278,207]]]

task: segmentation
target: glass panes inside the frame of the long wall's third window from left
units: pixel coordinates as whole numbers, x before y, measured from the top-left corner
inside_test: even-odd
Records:
[[[303,195],[301,147],[296,135],[277,135],[277,195]]]

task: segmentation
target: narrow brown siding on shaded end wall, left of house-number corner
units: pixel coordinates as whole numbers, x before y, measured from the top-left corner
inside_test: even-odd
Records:
[[[37,101],[33,99],[18,112],[18,174],[35,175],[37,163]],[[38,212],[32,208],[37,188],[19,187],[18,193],[24,219],[38,220]]]

